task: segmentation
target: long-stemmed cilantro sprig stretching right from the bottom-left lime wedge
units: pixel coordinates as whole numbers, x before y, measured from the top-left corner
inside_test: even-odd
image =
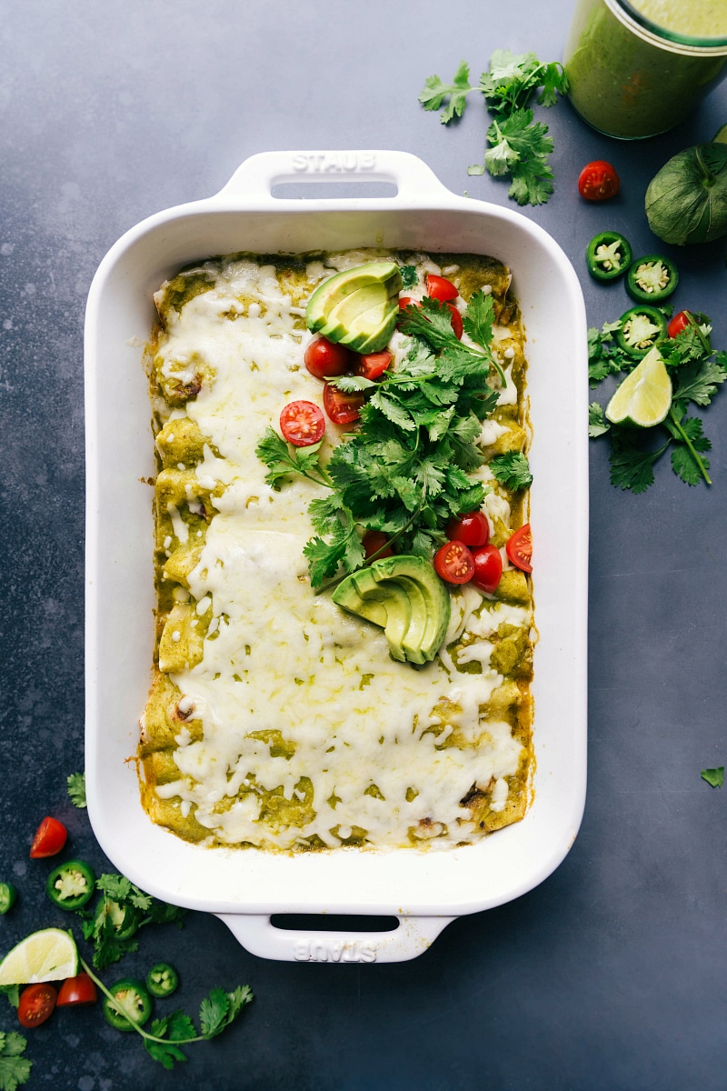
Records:
[[[80,961],[92,981],[110,1000],[113,1000],[113,994],[102,981],[99,981],[90,967],[83,959]],[[231,993],[227,993],[223,988],[213,988],[199,1006],[199,1030],[196,1029],[192,1018],[183,1011],[172,1011],[163,1019],[155,1019],[148,1031],[131,1020],[130,1027],[144,1039],[147,1053],[155,1060],[165,1068],[173,1068],[177,1062],[187,1059],[181,1046],[191,1045],[193,1042],[208,1042],[217,1038],[231,1022],[234,1022],[252,998],[249,985],[239,985]]]

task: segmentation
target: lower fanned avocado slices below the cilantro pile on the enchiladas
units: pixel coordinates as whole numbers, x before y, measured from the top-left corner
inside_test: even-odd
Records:
[[[421,556],[374,561],[341,580],[334,602],[381,625],[395,659],[429,662],[449,625],[449,595],[431,564]],[[381,624],[381,607],[386,624]]]

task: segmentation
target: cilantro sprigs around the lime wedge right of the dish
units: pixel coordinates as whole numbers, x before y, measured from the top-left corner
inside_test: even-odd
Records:
[[[689,415],[689,404],[706,407],[727,380],[727,352],[716,351],[710,340],[710,320],[688,314],[688,324],[676,337],[659,341],[658,349],[673,383],[671,405],[666,419],[643,434],[626,424],[610,424],[599,403],[589,407],[589,435],[608,435],[610,481],[633,493],[645,492],[654,483],[654,466],[667,451],[671,469],[687,484],[712,484],[706,452],[712,443],[704,434],[700,417]],[[596,385],[607,375],[631,371],[638,363],[620,349],[613,337],[618,322],[601,331],[589,329],[589,376]]]

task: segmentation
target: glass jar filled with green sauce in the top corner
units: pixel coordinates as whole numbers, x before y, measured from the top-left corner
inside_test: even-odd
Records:
[[[687,33],[706,29],[715,36]],[[683,121],[727,75],[726,61],[727,0],[577,0],[564,56],[575,110],[621,140]]]

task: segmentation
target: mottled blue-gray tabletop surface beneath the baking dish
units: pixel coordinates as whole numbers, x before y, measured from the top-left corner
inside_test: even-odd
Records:
[[[27,860],[45,814],[68,822],[74,854],[108,866],[85,812],[65,798],[65,777],[83,763],[82,328],[99,260],[144,216],[215,192],[268,148],[401,148],[453,191],[507,204],[506,183],[467,175],[482,161],[481,101],[472,96],[463,121],[445,129],[416,95],[427,74],[448,79],[461,58],[477,74],[495,48],[559,58],[570,8],[0,3],[0,876],[21,888],[0,918],[0,950],[68,924],[45,901],[50,863]],[[599,136],[567,104],[543,119],[556,140],[556,192],[524,214],[569,253],[590,323],[601,324],[628,301],[620,284],[585,275],[587,240],[615,227],[635,253],[664,249],[643,215],[646,183],[727,120],[727,86],[644,143]],[[593,158],[621,175],[607,206],[575,192]],[[673,253],[682,274],[675,301],[711,313],[723,347],[724,255],[724,242]],[[704,416],[711,489],[687,488],[664,464],[645,495],[617,492],[605,447],[592,446],[589,798],[580,837],[546,883],[456,922],[399,966],[262,961],[201,914],[181,933],[147,930],[122,973],[171,958],[181,1003],[249,981],[254,1006],[173,1074],[98,1009],[59,1011],[28,1033],[31,1087],[724,1088],[727,791],[700,770],[727,757],[727,398]],[[14,1026],[0,998],[0,1029]]]

